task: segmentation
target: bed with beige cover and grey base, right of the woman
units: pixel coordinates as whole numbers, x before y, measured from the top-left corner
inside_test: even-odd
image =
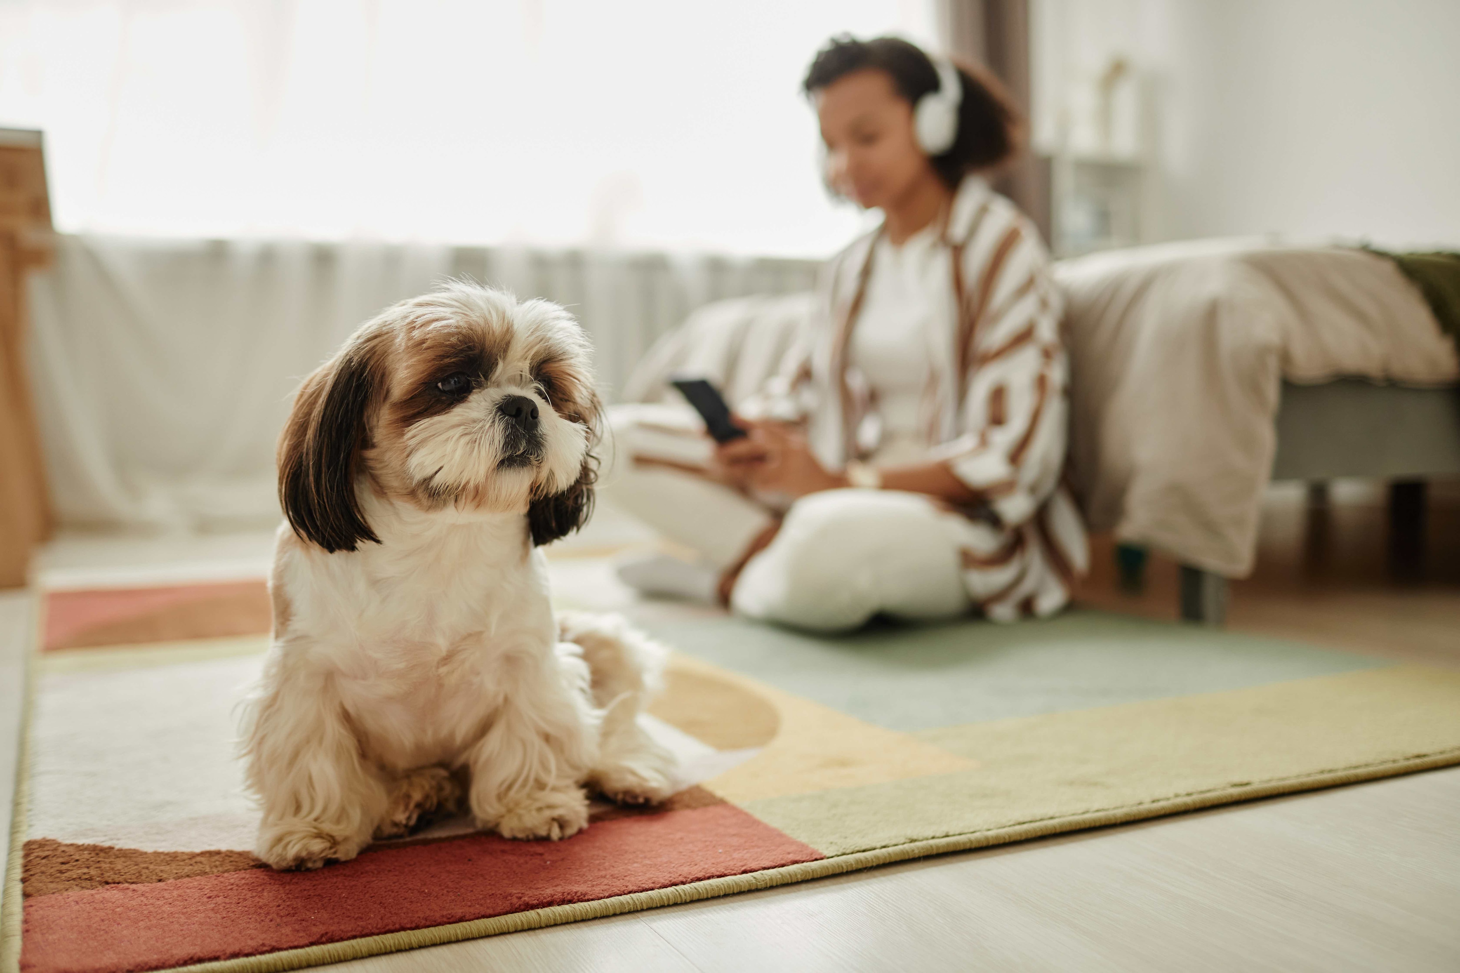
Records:
[[[1460,471],[1454,340],[1387,257],[1194,241],[1056,276],[1086,518],[1183,565],[1184,619],[1222,621],[1270,481],[1390,480],[1393,522],[1413,535],[1424,480]]]

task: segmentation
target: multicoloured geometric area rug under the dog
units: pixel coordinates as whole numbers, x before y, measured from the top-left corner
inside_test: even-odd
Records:
[[[439,821],[280,874],[231,744],[267,637],[206,614],[32,659],[10,969],[296,969],[1460,763],[1460,672],[1089,611],[845,637],[682,613],[648,621],[676,649],[645,721],[679,757],[667,805],[596,805],[564,842]]]

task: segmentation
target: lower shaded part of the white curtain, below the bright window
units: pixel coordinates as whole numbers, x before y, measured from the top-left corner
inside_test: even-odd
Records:
[[[694,308],[813,286],[800,260],[406,244],[64,235],[32,282],[32,375],[72,527],[218,530],[277,518],[273,446],[299,379],[383,306],[444,277],[568,305],[612,398]]]

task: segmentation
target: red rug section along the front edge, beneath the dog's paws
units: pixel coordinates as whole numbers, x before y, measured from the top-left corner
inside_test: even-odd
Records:
[[[823,858],[731,804],[600,821],[565,842],[473,836],[314,872],[251,869],[25,903],[26,973],[120,973],[591,902]]]

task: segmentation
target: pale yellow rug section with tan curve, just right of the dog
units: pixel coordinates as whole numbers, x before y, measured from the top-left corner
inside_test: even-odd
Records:
[[[676,689],[688,694],[676,697]],[[774,732],[758,754],[702,783],[736,804],[958,773],[978,766],[975,759],[934,743],[873,726],[686,655],[673,656],[669,690],[666,697],[675,700],[673,709],[656,705],[651,712],[691,735],[699,724],[718,724],[714,731],[699,728],[712,737],[704,743],[764,740],[766,726]],[[694,713],[704,719],[686,716]],[[723,724],[714,719],[717,713]]]

